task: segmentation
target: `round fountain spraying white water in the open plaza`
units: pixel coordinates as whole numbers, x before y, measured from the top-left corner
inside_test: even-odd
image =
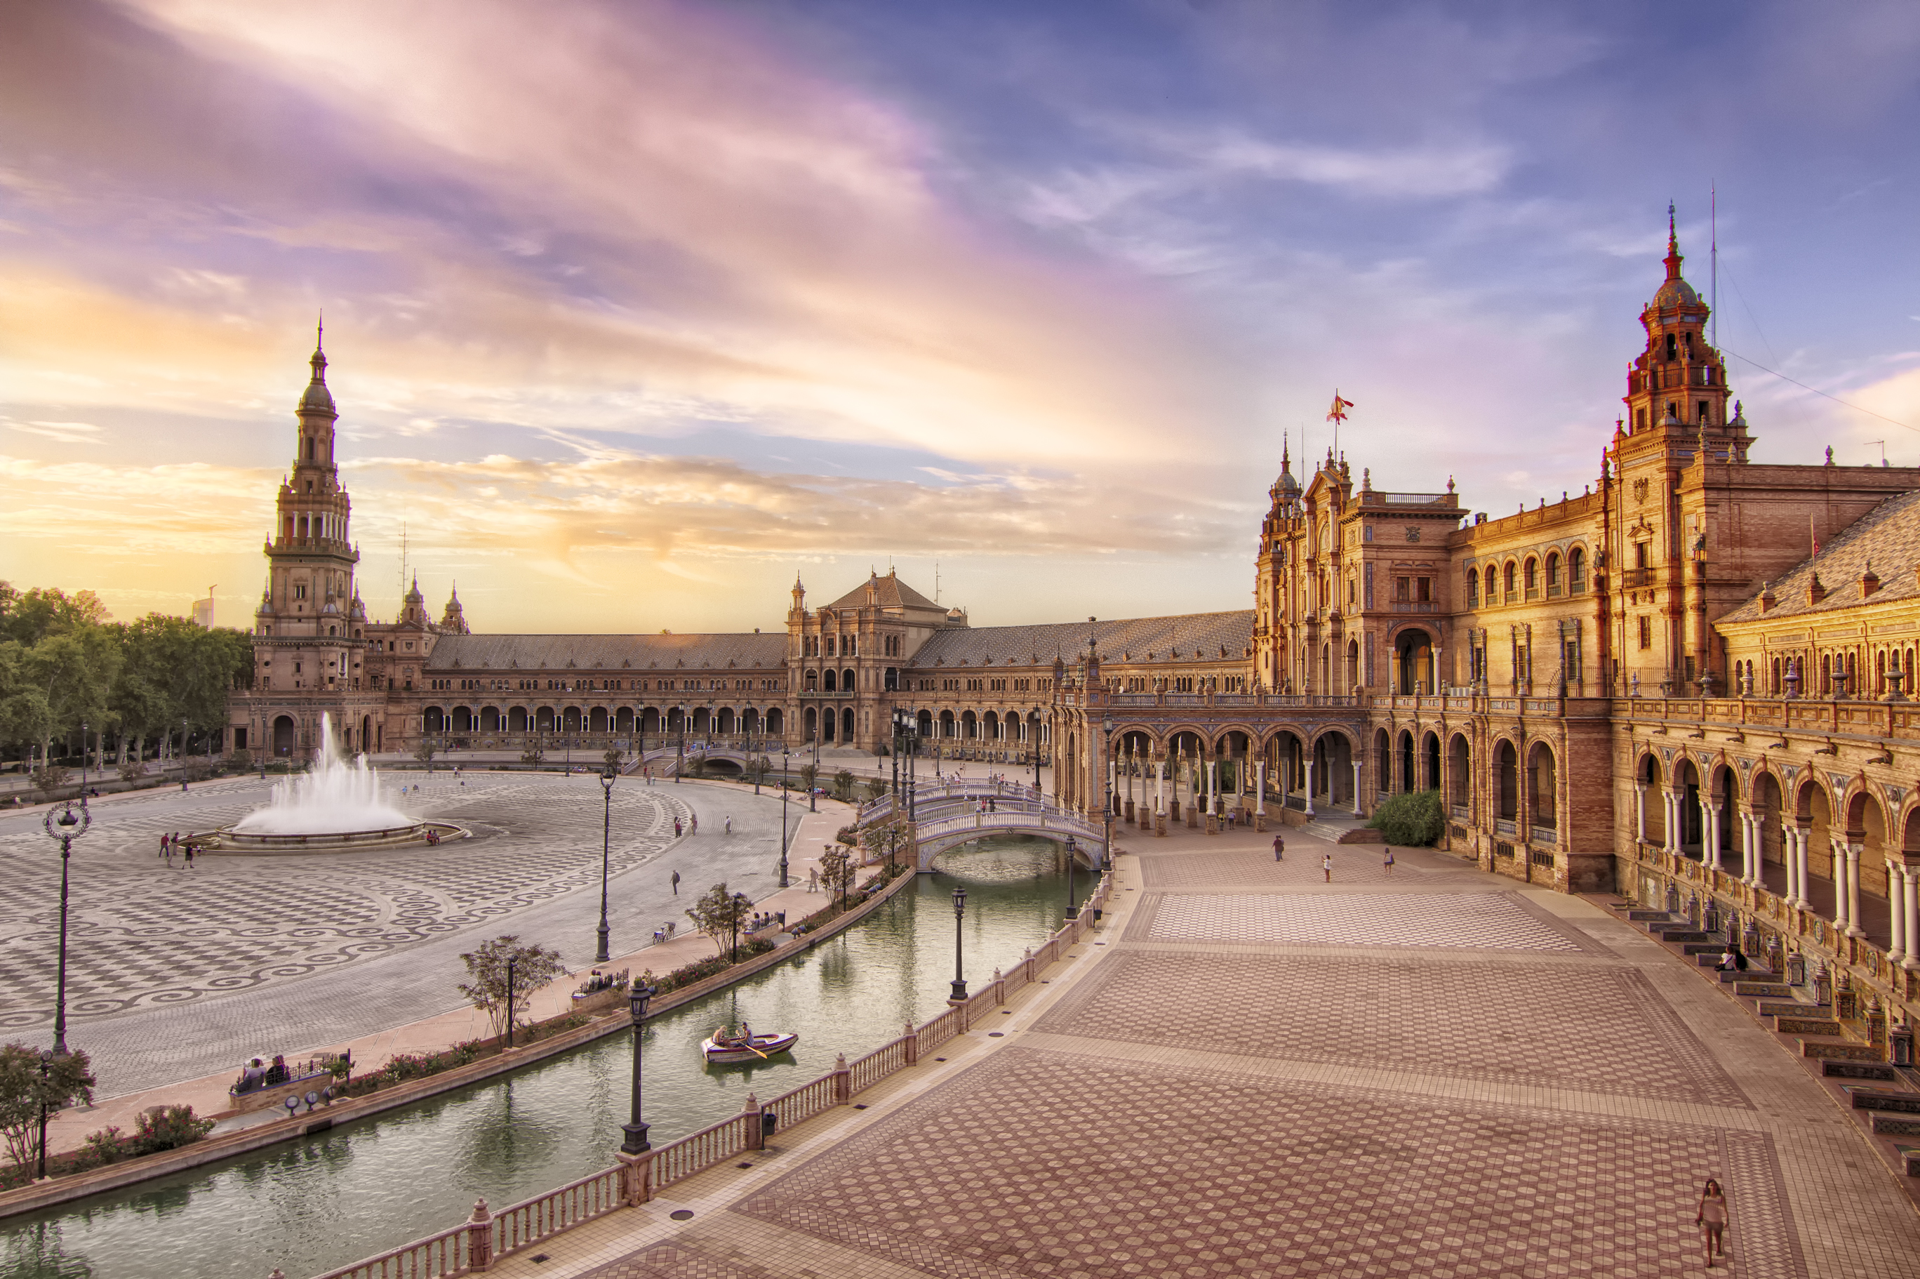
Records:
[[[365,755],[348,760],[334,741],[332,716],[321,716],[321,757],[313,768],[280,780],[265,808],[255,808],[213,837],[230,853],[342,849],[417,843],[465,835],[447,822],[422,822],[388,803],[380,774]]]

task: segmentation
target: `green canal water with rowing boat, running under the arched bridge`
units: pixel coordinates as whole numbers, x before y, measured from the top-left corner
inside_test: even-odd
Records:
[[[653,1145],[776,1097],[945,1006],[952,889],[964,883],[970,981],[1060,926],[1056,847],[995,839],[952,853],[868,920],[810,953],[647,1022]],[[1083,878],[1081,889],[1087,883]],[[791,1058],[705,1066],[720,1022],[795,1029]],[[628,1118],[632,1037],[611,1035],[511,1077],[269,1150],[0,1221],[8,1279],[288,1279],[319,1275],[612,1166]]]

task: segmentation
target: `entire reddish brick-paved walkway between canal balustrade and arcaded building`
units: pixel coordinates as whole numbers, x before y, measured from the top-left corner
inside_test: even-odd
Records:
[[[1100,941],[945,1064],[495,1273],[1680,1275],[1716,1177],[1716,1273],[1920,1275],[1853,1122],[1644,933],[1446,855],[1325,885],[1325,845],[1233,843],[1135,835]]]

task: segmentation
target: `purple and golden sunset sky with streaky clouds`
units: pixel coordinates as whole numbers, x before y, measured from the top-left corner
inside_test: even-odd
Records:
[[[324,311],[376,618],[1242,609],[1334,388],[1594,482],[1668,202],[1755,461],[1920,465],[1914,136],[1908,0],[0,0],[0,578],[248,624]]]

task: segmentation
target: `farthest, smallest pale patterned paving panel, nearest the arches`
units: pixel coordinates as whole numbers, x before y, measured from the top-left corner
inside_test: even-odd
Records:
[[[1140,941],[1582,951],[1509,893],[1167,893],[1129,928]]]

